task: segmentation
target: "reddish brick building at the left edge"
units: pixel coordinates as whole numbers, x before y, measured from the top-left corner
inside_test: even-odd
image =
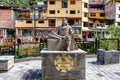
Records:
[[[14,36],[14,12],[10,7],[0,6],[0,37]]]

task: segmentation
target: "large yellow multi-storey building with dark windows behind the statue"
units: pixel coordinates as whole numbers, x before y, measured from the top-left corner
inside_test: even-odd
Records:
[[[42,6],[18,11],[15,26],[17,36],[39,37],[47,33],[45,31],[61,26],[63,18],[79,34],[75,35],[76,38],[80,38],[81,29],[88,27],[88,0],[47,0],[45,5],[46,9]]]

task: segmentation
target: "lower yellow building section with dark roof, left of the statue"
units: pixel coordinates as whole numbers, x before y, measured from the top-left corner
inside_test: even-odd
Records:
[[[16,13],[16,37],[21,42],[35,42],[47,30],[46,5],[33,4],[14,9]]]

